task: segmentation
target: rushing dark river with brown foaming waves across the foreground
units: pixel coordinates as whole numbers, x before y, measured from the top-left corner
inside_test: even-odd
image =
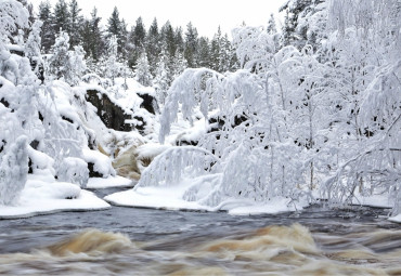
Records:
[[[2,220],[0,275],[401,275],[401,225],[387,213],[113,207]]]

